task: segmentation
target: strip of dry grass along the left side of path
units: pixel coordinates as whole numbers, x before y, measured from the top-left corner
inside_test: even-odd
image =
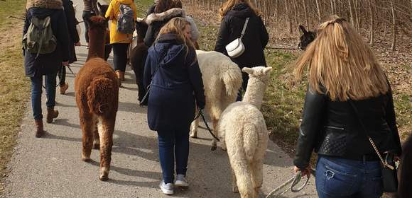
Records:
[[[9,18],[24,18],[25,5],[24,0],[0,1],[0,194],[30,93],[21,52],[23,20]]]

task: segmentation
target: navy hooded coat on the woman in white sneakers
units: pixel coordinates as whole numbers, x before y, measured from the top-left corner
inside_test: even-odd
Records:
[[[149,84],[149,128],[189,130],[195,117],[195,101],[198,107],[205,107],[202,73],[195,49],[188,50],[176,35],[161,35],[148,49],[144,86]]]

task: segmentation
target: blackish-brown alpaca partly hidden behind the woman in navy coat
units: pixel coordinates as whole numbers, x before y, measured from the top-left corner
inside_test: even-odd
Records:
[[[136,84],[139,88],[138,99],[140,102],[146,93],[146,88],[143,87],[143,69],[144,64],[146,63],[148,47],[144,45],[143,38],[146,35],[147,28],[148,25],[143,20],[137,21],[137,37],[136,41],[134,41],[136,42],[136,47],[131,47],[131,49],[129,49],[131,69],[133,69],[134,75],[136,76]]]

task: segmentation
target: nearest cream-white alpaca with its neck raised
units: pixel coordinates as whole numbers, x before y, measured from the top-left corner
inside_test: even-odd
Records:
[[[229,105],[217,125],[222,144],[227,146],[233,191],[239,189],[242,198],[258,197],[263,184],[263,161],[269,134],[260,108],[271,69],[264,66],[242,69],[249,74],[244,99]]]

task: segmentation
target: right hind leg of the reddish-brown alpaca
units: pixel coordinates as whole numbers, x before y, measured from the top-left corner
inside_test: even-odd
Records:
[[[112,117],[99,118],[100,136],[100,177],[102,181],[109,179],[110,161],[112,161],[113,132],[116,114]]]

